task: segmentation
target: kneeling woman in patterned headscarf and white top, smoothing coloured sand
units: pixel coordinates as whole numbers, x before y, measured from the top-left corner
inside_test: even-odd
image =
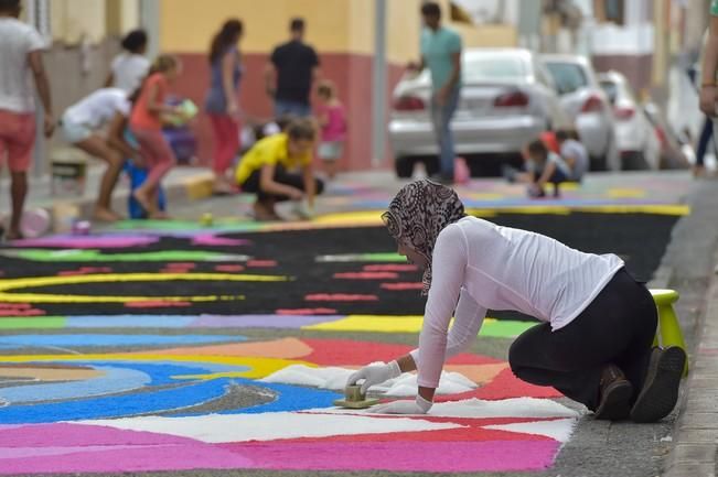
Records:
[[[686,355],[652,348],[655,304],[619,257],[468,217],[452,189],[429,181],[405,186],[384,220],[399,253],[425,269],[428,301],[417,350],[350,377],[365,391],[418,368],[416,401],[376,412],[428,412],[444,360],[473,343],[489,308],[544,322],[508,351],[524,381],[556,388],[597,419],[654,422],[675,406]]]

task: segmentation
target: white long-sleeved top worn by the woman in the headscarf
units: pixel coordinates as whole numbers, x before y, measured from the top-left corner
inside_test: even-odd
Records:
[[[419,348],[411,351],[418,384],[439,386],[444,360],[473,343],[486,310],[522,312],[557,330],[623,265],[614,254],[583,253],[553,238],[475,217],[446,227],[433,248]]]

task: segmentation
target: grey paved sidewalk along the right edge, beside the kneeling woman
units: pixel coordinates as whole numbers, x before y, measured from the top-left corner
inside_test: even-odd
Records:
[[[664,464],[667,477],[715,476],[718,464],[718,182],[695,191],[693,213],[678,223],[652,286],[681,293],[677,313],[690,371],[684,382],[673,446]]]

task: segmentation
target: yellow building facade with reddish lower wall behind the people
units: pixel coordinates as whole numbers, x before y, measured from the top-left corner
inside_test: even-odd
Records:
[[[501,7],[501,18],[473,24],[462,2],[440,0],[446,22],[458,30],[467,47],[514,46],[519,37],[518,0]],[[143,26],[150,35],[150,56],[170,53],[184,64],[175,94],[202,105],[208,85],[207,50],[213,34],[228,18],[245,24],[242,41],[244,75],[240,102],[248,119],[269,119],[271,101],[264,87],[264,71],[271,50],[288,40],[289,21],[307,22],[307,42],[321,59],[322,76],[336,83],[350,115],[349,143],[344,170],[389,166],[390,151],[373,158],[375,118],[388,118],[390,93],[409,61],[419,58],[421,0],[34,0],[26,20],[44,25],[52,48],[46,56],[52,73],[55,110],[62,111],[92,90],[103,86],[109,63],[118,52],[118,40],[127,31]],[[499,2],[502,3],[502,2]],[[39,8],[35,8],[37,7]],[[376,79],[373,62],[377,53],[377,6],[385,19],[385,95],[376,115],[372,101]],[[470,7],[470,6],[469,6]],[[25,9],[28,10],[28,9]],[[470,14],[468,17],[471,17]],[[452,18],[456,19],[452,20]],[[383,118],[383,119],[382,119]],[[213,141],[206,118],[196,121],[199,158],[208,163]],[[55,138],[54,145],[61,140]],[[374,161],[373,161],[374,159]]]

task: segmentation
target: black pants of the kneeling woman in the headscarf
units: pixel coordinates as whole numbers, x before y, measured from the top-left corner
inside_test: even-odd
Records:
[[[621,269],[590,305],[565,327],[544,323],[523,333],[508,350],[516,377],[553,386],[564,395],[596,410],[601,370],[617,365],[633,384],[643,387],[655,336],[657,312],[647,289]]]

